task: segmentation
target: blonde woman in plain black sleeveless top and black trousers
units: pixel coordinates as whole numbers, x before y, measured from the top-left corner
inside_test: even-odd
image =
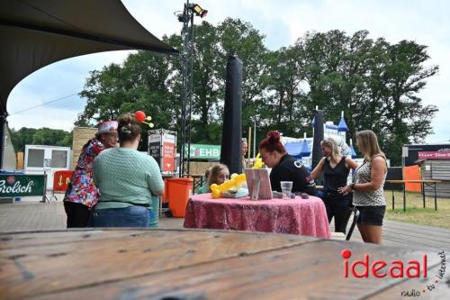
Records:
[[[356,169],[356,161],[342,156],[338,143],[332,138],[320,142],[325,157],[320,159],[319,164],[311,172],[311,177],[316,178],[323,172],[324,184],[322,200],[327,208],[329,222],[335,218],[335,231],[346,232],[347,219],[350,214],[349,197],[342,195],[338,188],[347,186],[347,177],[350,168]]]

